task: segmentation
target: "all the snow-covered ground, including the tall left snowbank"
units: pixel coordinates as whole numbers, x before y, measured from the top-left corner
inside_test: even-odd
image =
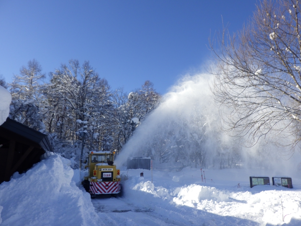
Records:
[[[265,174],[272,180],[275,172],[205,170],[205,183],[200,169],[154,170],[151,183],[151,171],[130,169],[122,171],[122,197],[90,199],[77,187],[79,170],[70,164],[54,154],[0,184],[1,226],[301,225],[298,174],[291,175],[293,189],[250,188],[250,175]]]

